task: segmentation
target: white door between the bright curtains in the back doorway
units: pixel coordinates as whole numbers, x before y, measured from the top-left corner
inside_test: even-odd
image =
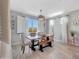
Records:
[[[55,41],[61,41],[61,24],[60,19],[55,20],[54,24],[54,40]]]

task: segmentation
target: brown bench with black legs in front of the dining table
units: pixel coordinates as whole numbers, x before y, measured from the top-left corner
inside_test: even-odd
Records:
[[[43,36],[39,41],[39,47],[40,47],[39,50],[41,52],[43,52],[43,48],[52,47],[52,41],[54,42],[53,37],[51,37],[51,36]]]

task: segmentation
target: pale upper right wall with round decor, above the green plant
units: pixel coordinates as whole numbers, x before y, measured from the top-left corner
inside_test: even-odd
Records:
[[[70,15],[70,19],[69,19],[70,31],[79,32],[79,24],[78,25],[73,24],[76,20],[79,20],[79,10],[69,13],[69,15]]]

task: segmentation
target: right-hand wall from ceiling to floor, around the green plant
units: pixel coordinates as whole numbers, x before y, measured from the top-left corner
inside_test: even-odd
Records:
[[[76,39],[75,39],[75,41],[73,40],[73,38],[72,38],[72,36],[71,36],[71,32],[74,32],[75,33],[75,35],[77,35],[77,34],[79,34],[79,24],[75,24],[75,22],[77,21],[77,22],[79,22],[79,10],[75,10],[75,11],[72,11],[72,12],[70,12],[70,13],[68,13],[68,15],[69,15],[69,23],[68,23],[68,36],[69,36],[69,44],[72,44],[72,45],[75,45],[76,43],[78,43],[77,44],[77,46],[79,46],[79,39],[78,39],[78,41],[76,41]],[[77,35],[78,36],[78,35]]]

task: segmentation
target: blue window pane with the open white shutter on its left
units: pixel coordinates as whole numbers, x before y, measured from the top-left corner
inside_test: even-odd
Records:
[[[28,32],[29,28],[38,30],[38,20],[17,16],[17,33]]]

